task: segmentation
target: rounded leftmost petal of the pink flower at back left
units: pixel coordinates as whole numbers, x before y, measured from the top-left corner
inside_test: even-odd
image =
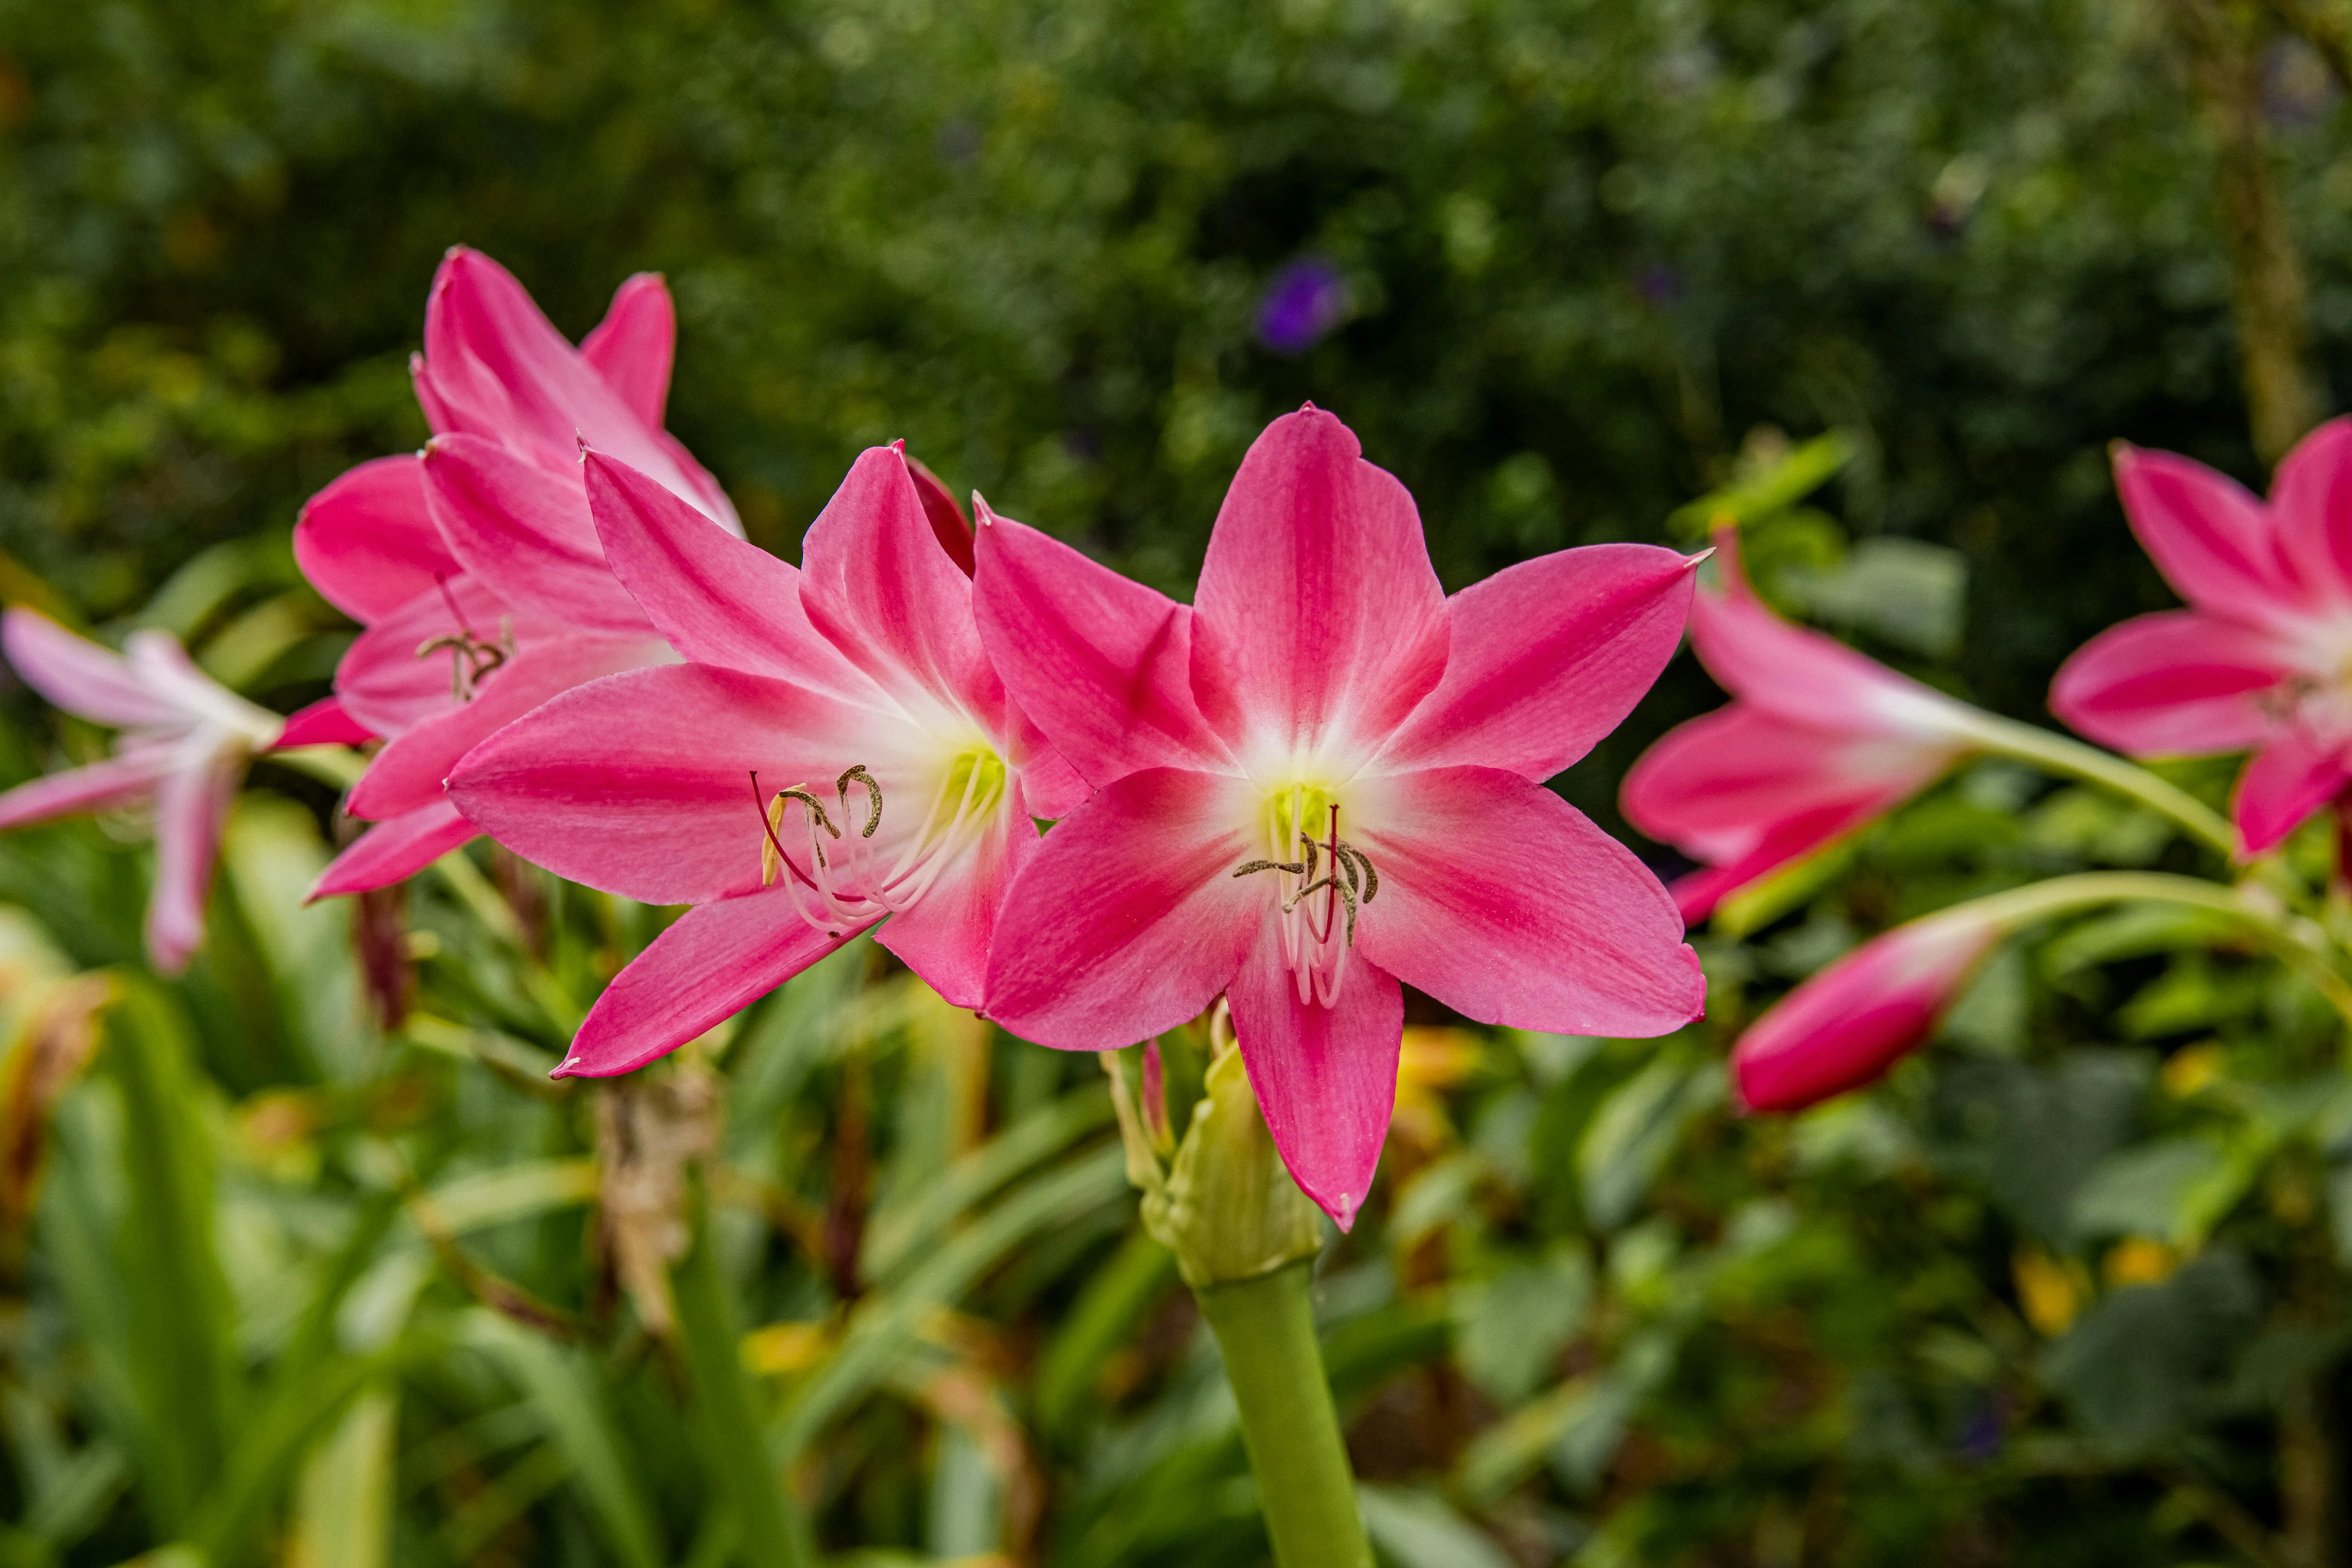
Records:
[[[310,588],[360,625],[459,574],[426,510],[414,454],[360,463],[310,496],[294,522],[294,562]]]

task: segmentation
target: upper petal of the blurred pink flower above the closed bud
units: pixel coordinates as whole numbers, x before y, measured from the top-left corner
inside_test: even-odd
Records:
[[[1729,529],[1715,536],[1715,562],[1722,592],[1691,602],[1691,646],[1724,691],[1813,729],[1917,741],[1966,733],[1962,703],[1771,614],[1740,576]]]

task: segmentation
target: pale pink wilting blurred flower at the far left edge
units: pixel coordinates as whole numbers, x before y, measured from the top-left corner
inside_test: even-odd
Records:
[[[205,891],[245,764],[278,745],[285,719],[198,670],[169,632],[132,632],[115,654],[19,607],[0,616],[0,649],[33,691],[122,731],[111,759],[0,795],[0,827],[153,809],[146,945],[155,969],[179,973],[205,940]]]

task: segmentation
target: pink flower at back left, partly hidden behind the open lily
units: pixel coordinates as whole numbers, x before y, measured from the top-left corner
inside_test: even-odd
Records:
[[[334,712],[388,741],[348,802],[376,827],[313,896],[386,886],[463,844],[475,830],[442,797],[459,757],[557,691],[673,658],[604,569],[579,475],[590,442],[741,531],[661,428],[673,341],[661,277],[623,282],[574,348],[489,256],[442,261],[409,367],[430,447],[353,468],[294,529],[310,583],[367,625],[336,670]]]

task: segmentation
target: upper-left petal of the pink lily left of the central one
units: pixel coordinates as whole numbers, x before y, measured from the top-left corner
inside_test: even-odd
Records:
[[[800,569],[713,524],[649,477],[590,451],[588,510],[604,559],[684,658],[870,701],[877,686],[800,609]]]

